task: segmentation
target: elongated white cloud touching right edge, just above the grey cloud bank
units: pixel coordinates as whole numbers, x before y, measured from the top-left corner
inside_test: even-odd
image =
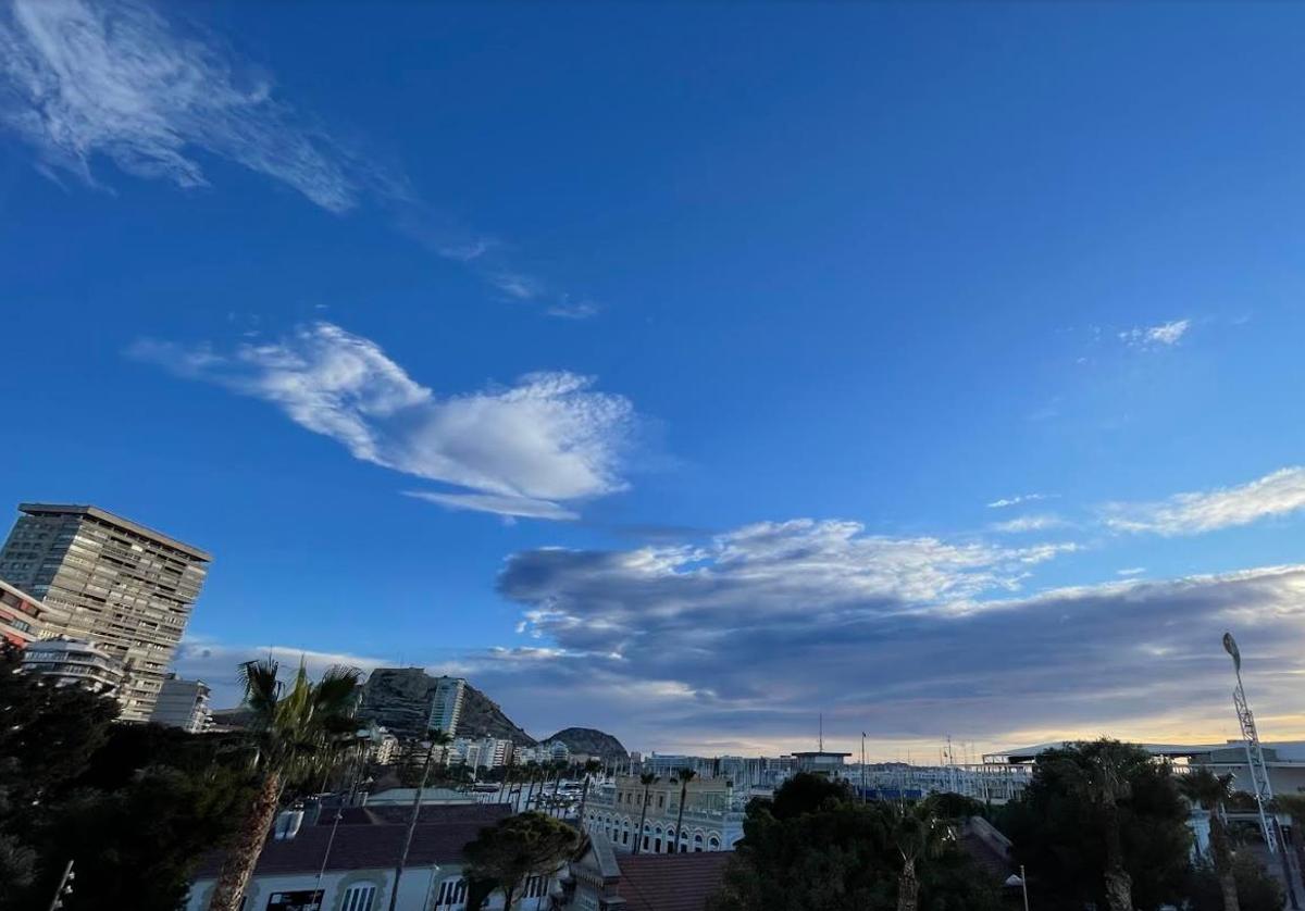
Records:
[[[1305,467],[1289,467],[1241,487],[1177,493],[1160,502],[1108,504],[1103,519],[1117,531],[1194,535],[1287,516],[1302,508]]]

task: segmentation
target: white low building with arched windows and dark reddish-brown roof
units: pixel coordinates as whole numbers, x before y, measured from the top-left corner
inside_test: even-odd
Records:
[[[328,808],[316,818],[283,813],[258,856],[245,895],[251,911],[381,911],[389,907],[394,867],[407,833],[408,807]],[[339,816],[337,824],[337,814]],[[501,804],[422,807],[397,906],[403,910],[459,911],[466,907],[463,850],[485,826],[512,808]],[[185,911],[207,911],[223,855],[200,861]],[[562,868],[565,869],[565,868]],[[562,871],[559,871],[561,873]],[[519,907],[555,891],[556,876],[531,877]],[[502,894],[487,908],[502,908]]]

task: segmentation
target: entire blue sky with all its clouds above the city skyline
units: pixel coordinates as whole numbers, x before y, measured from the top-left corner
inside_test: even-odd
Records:
[[[1305,10],[0,12],[0,500],[179,667],[659,750],[1305,736]],[[1001,501],[1018,500],[1005,505]]]

